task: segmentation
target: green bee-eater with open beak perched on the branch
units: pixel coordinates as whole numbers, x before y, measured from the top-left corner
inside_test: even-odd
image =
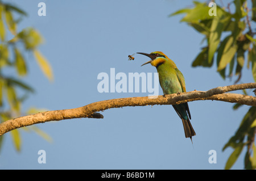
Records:
[[[180,92],[186,91],[185,79],[183,77],[183,74],[180,72],[179,69],[177,69],[174,61],[168,58],[163,52],[157,51],[150,54],[139,54],[143,54],[151,58],[150,61],[144,63],[143,65],[150,63],[152,66],[156,67],[156,70],[158,70],[159,74],[160,86],[163,89],[164,95],[175,93],[178,94]],[[185,137],[191,138],[192,141],[192,136],[195,136],[196,133],[189,121],[189,119],[191,119],[191,115],[189,112],[188,103],[176,104],[172,106],[182,120]]]

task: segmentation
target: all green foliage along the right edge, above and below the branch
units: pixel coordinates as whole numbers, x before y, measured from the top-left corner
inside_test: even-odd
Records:
[[[208,3],[193,2],[191,9],[181,9],[170,16],[185,14],[181,22],[187,23],[204,36],[207,45],[201,49],[192,62],[192,66],[212,67],[216,62],[217,72],[222,78],[242,76],[242,69],[251,69],[256,82],[256,39],[251,23],[256,22],[256,1],[234,0],[227,7],[216,5],[216,16],[212,15],[214,6]],[[247,4],[248,3],[248,4]],[[248,7],[251,3],[251,7]],[[232,6],[234,12],[232,12]],[[246,57],[247,56],[247,64]],[[240,107],[234,106],[234,110]],[[256,148],[254,144],[256,130],[256,108],[251,107],[243,117],[236,134],[224,146],[234,149],[226,162],[225,169],[230,169],[236,162],[242,149],[247,148],[245,169],[256,169]]]

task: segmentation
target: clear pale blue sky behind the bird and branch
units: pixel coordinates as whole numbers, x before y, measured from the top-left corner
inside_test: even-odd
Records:
[[[52,65],[54,81],[44,77],[32,54],[29,75],[23,79],[36,90],[23,105],[63,110],[100,100],[147,96],[146,92],[100,93],[101,72],[155,73],[147,57],[135,52],[160,50],[183,73],[187,91],[207,91],[232,85],[213,68],[192,68],[203,36],[185,23],[182,15],[168,15],[192,5],[192,1],[10,1],[28,13],[18,30],[32,26],[45,39],[40,51]],[[46,16],[38,16],[38,3],[46,3]],[[218,1],[217,1],[218,3]],[[254,82],[243,70],[241,82]],[[159,86],[159,94],[162,89]],[[241,93],[241,91],[238,91]],[[250,95],[252,91],[249,91]],[[224,169],[232,153],[223,146],[236,132],[249,107],[232,110],[232,103],[189,102],[196,131],[193,146],[184,137],[183,126],[172,106],[123,107],[101,112],[104,119],[72,119],[36,125],[47,132],[49,143],[22,129],[22,150],[14,149],[5,134],[0,169]],[[38,163],[38,151],[46,151],[46,163]],[[209,150],[216,150],[217,163],[210,164]],[[232,169],[243,169],[243,155]]]

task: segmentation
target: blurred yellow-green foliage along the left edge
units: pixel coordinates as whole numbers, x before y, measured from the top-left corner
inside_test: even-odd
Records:
[[[38,50],[43,43],[40,33],[31,27],[18,32],[18,23],[25,16],[27,14],[23,10],[0,1],[0,123],[24,115],[22,103],[34,92],[31,86],[21,80],[28,74],[28,60],[24,52],[32,52],[43,73],[49,80],[53,79],[51,66]],[[31,111],[36,113],[42,110],[31,108],[28,113]],[[46,133],[35,126],[24,129],[31,129],[51,141]],[[19,151],[22,143],[20,131],[11,131],[11,136],[15,149]],[[0,148],[2,142],[3,136],[0,137]]]

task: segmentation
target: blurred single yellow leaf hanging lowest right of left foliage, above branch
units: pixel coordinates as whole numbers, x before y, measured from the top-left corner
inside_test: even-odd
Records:
[[[34,49],[34,56],[36,58],[36,61],[38,62],[40,68],[42,69],[44,75],[49,79],[49,81],[53,81],[53,74],[52,74],[52,68],[49,65],[46,58],[43,57],[43,55],[36,49]]]

